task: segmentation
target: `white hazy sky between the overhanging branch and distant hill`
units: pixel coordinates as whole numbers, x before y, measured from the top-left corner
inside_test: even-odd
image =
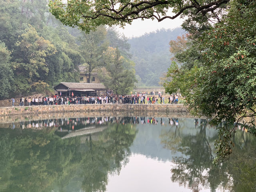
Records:
[[[167,15],[172,15],[172,12],[168,12]],[[118,31],[128,38],[134,36],[142,36],[146,32],[152,32],[157,29],[165,28],[165,29],[173,29],[180,27],[182,24],[183,19],[176,18],[174,20],[171,19],[165,19],[162,20],[161,22],[158,22],[157,20],[134,20],[131,25],[126,25],[124,29],[118,28]]]

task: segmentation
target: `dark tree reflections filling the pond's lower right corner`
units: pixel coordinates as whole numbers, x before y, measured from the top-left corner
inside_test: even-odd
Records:
[[[237,132],[233,141],[234,153],[230,160],[214,166],[212,146],[217,135],[212,138],[206,136],[206,122],[201,122],[197,128],[196,135],[181,136],[179,144],[170,141],[175,145],[176,151],[185,155],[174,158],[172,181],[188,186],[194,192],[200,191],[202,186],[209,187],[212,192],[220,186],[235,192],[256,191],[255,138],[242,131]],[[166,138],[175,140],[173,133]]]

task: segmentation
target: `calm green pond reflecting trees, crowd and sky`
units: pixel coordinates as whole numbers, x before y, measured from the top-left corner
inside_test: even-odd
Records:
[[[205,119],[88,114],[0,119],[0,192],[256,191],[256,138],[244,130],[214,166]]]

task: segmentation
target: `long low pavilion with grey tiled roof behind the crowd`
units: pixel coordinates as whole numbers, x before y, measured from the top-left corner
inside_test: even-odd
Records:
[[[90,96],[90,95],[104,95],[106,87],[100,83],[67,83],[62,82],[54,87],[58,91],[58,95],[62,96]]]

